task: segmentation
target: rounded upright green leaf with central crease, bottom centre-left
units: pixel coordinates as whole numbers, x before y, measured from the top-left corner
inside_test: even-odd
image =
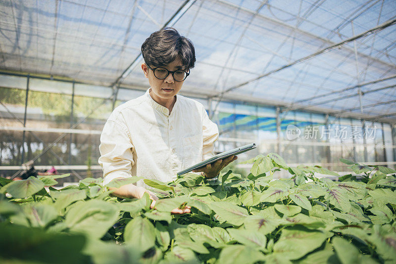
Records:
[[[124,239],[140,252],[145,252],[155,245],[155,228],[148,219],[136,217],[125,226]]]

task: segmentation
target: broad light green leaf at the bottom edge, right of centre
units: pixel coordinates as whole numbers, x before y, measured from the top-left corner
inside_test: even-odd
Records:
[[[274,253],[283,253],[286,259],[297,260],[320,247],[330,235],[300,227],[283,229],[281,237],[274,245]]]

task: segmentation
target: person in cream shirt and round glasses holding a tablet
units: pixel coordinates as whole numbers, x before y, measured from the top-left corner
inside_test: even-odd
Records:
[[[177,172],[213,156],[219,132],[198,101],[177,95],[194,67],[193,43],[176,29],[154,32],[142,44],[142,70],[150,88],[146,94],[130,100],[108,118],[100,136],[99,164],[104,184],[115,178],[143,176],[170,181]],[[206,178],[214,178],[237,157],[231,156],[199,169]],[[114,195],[141,198],[143,181],[124,185]],[[175,209],[173,213],[189,213]]]

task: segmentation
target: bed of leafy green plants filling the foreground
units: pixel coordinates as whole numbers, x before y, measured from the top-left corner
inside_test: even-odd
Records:
[[[0,261],[395,263],[396,171],[341,161],[360,176],[288,167],[270,153],[247,161],[253,165],[244,176],[144,179],[162,197],[154,209],[147,194],[110,195],[109,187],[142,177],[105,186],[86,178],[60,190],[51,186],[63,176],[0,178]],[[280,170],[290,178],[273,179]],[[171,215],[184,206],[190,214]]]

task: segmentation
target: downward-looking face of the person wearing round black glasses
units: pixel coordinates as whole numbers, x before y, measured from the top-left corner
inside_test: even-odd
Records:
[[[155,68],[153,65],[148,66]],[[161,67],[166,68],[168,71],[183,70],[183,64],[179,56],[173,62]],[[174,96],[183,86],[184,81],[176,82],[170,73],[165,79],[156,78],[153,71],[145,63],[142,64],[142,70],[151,86],[151,96],[159,104],[172,102]]]

